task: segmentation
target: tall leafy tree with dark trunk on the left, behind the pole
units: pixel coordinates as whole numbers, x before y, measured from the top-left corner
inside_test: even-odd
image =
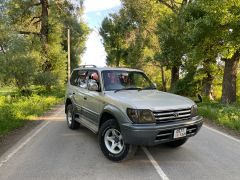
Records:
[[[37,63],[34,82],[44,85],[48,90],[52,85],[63,83],[66,80],[67,28],[72,30],[71,53],[74,66],[80,61],[89,32],[86,24],[79,20],[82,15],[82,1],[78,5],[67,0],[10,0],[5,1],[3,7],[7,21],[1,25],[5,29],[11,29],[6,35],[12,32],[17,38],[27,40],[30,45],[27,44],[25,49],[31,46],[29,48],[35,52],[32,57]],[[9,47],[8,42],[0,42],[0,45],[3,53],[11,52],[11,47],[4,47]]]

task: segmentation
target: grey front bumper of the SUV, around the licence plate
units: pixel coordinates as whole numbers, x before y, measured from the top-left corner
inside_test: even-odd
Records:
[[[202,124],[203,118],[196,116],[189,120],[171,123],[123,124],[121,131],[126,144],[153,146],[176,140],[173,139],[173,132],[179,128],[187,128],[187,138],[194,136]]]

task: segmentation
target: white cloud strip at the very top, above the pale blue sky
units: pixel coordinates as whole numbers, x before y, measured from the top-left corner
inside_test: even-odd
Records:
[[[85,13],[108,10],[121,5],[120,0],[85,0]]]

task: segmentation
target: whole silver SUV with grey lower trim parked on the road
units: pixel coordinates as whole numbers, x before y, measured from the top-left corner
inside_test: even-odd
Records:
[[[181,146],[203,123],[192,100],[158,91],[143,71],[127,68],[74,69],[65,112],[69,128],[81,124],[98,134],[112,161],[133,155],[138,145]]]

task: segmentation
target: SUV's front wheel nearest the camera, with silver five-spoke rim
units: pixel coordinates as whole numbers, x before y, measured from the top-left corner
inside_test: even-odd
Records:
[[[115,119],[103,123],[99,130],[98,141],[104,156],[115,162],[131,158],[137,150],[137,146],[124,143]]]

